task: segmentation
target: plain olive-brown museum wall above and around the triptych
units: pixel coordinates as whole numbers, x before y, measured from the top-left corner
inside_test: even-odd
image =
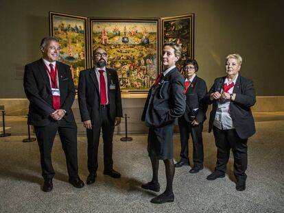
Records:
[[[282,96],[284,1],[0,0],[0,99],[25,98],[23,68],[40,58],[49,35],[49,11],[94,17],[147,18],[195,13],[198,75],[210,87],[224,75],[224,58],[239,53],[241,75],[253,79],[258,96]]]

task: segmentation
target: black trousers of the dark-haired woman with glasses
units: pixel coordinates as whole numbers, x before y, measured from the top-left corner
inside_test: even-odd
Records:
[[[193,165],[203,166],[203,123],[193,126],[182,116],[178,118],[178,127],[180,128],[180,160],[189,163],[189,136],[191,135],[193,142]]]

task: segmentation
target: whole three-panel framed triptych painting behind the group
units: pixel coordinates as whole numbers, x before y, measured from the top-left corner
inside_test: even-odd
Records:
[[[176,42],[182,60],[193,58],[194,14],[169,18],[86,18],[49,12],[50,35],[58,38],[60,61],[69,64],[75,86],[80,71],[93,66],[93,50],[108,52],[123,93],[145,93],[161,70],[161,47]],[[180,70],[181,71],[181,70]]]

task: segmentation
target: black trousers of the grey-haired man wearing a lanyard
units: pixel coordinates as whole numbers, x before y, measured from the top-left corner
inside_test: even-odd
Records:
[[[62,149],[66,156],[67,171],[69,178],[78,176],[78,156],[77,156],[77,125],[69,123],[64,118],[60,121],[51,121],[49,125],[40,127],[34,126],[36,139],[40,149],[40,165],[44,179],[52,179],[55,175],[51,162],[51,150],[54,145],[56,132],[60,136]]]

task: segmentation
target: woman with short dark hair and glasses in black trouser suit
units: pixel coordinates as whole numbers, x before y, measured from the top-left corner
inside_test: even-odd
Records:
[[[207,86],[203,79],[196,75],[198,62],[193,59],[185,60],[183,72],[185,73],[185,114],[178,118],[180,128],[180,161],[176,167],[189,165],[189,135],[193,142],[193,167],[189,173],[198,173],[203,169],[203,122],[206,119],[207,105],[202,99],[207,93]]]

